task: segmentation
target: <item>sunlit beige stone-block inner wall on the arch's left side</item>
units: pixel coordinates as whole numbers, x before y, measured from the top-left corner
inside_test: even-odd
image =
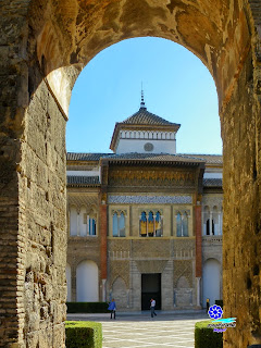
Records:
[[[20,172],[20,234],[26,239],[23,248],[25,321],[21,325],[28,347],[65,345],[64,134],[65,120],[42,82],[25,114]]]

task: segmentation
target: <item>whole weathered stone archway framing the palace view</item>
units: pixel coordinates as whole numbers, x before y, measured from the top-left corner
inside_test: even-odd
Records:
[[[224,347],[261,343],[260,1],[3,0],[1,11],[0,344],[64,346],[71,90],[95,54],[137,36],[183,45],[215,80],[224,144],[225,315],[238,319]],[[200,260],[196,273],[200,277]]]

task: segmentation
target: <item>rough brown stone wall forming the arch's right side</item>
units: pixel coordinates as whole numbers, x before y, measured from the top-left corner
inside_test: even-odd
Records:
[[[223,298],[237,326],[225,347],[261,343],[260,104],[253,98],[252,55],[222,115],[224,141]],[[240,169],[240,170],[239,170]],[[244,333],[244,334],[241,334]]]

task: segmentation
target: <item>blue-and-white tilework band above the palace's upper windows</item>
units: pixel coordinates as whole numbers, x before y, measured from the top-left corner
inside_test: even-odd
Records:
[[[109,196],[109,203],[116,204],[191,204],[191,196]]]

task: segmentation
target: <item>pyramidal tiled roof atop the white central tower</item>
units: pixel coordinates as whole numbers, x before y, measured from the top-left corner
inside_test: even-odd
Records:
[[[138,112],[124,120],[125,124],[152,124],[152,125],[174,125],[175,123],[169,122],[156,114],[147,111],[146,108],[140,108]]]

